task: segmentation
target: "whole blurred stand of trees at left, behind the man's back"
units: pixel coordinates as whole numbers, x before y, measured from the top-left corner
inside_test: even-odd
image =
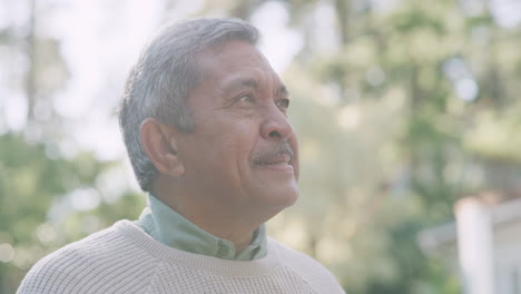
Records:
[[[38,259],[118,219],[135,219],[145,198],[127,183],[104,188],[104,177],[121,180],[114,176],[121,163],[68,153],[70,130],[53,98],[70,72],[60,40],[43,23],[55,6],[9,0],[2,9],[13,13],[0,24],[0,293],[14,293]],[[23,129],[9,121],[12,109]]]

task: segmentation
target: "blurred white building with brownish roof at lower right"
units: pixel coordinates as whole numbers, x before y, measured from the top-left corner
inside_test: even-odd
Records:
[[[421,232],[421,247],[460,273],[464,294],[521,294],[521,189],[462,198],[454,215]]]

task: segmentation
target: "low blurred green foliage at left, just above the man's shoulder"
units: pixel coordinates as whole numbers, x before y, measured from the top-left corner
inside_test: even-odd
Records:
[[[135,219],[145,206],[142,195],[124,193],[116,202],[102,200],[81,212],[57,204],[70,193],[91,187],[110,167],[91,154],[72,159],[51,159],[43,143],[27,143],[20,134],[0,136],[0,244],[9,244],[13,257],[0,262],[0,290],[13,293],[26,271],[43,255],[107,227],[118,219]]]

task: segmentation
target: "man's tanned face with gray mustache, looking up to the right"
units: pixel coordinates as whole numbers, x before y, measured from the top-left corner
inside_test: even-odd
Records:
[[[298,150],[281,79],[245,41],[206,50],[197,61],[204,80],[187,100],[195,129],[178,139],[189,195],[244,213],[274,215],[292,205]]]

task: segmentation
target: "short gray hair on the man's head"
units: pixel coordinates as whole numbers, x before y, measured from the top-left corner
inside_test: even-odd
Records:
[[[127,79],[119,125],[139,186],[153,192],[159,173],[142,151],[139,129],[146,118],[191,131],[186,106],[191,89],[203,80],[196,55],[230,40],[257,45],[258,30],[240,19],[191,19],[163,28],[145,47]]]

